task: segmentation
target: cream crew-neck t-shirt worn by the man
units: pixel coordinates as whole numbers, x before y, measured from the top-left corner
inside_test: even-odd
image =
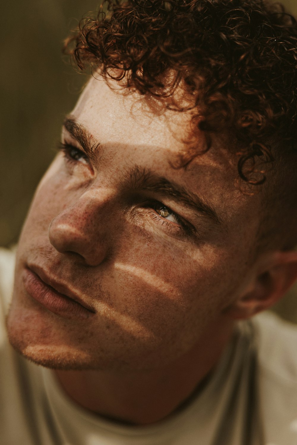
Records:
[[[76,405],[51,370],[8,344],[3,320],[13,263],[13,253],[0,249],[1,445],[297,445],[294,325],[270,313],[240,322],[191,401],[154,425],[120,425]]]

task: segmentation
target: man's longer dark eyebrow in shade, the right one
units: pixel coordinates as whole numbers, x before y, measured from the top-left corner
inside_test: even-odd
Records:
[[[220,226],[223,224],[216,210],[208,202],[203,201],[202,198],[186,190],[183,186],[156,175],[149,169],[134,166],[126,173],[125,178],[134,189],[147,190],[169,196],[175,202],[182,202],[187,207],[191,207],[195,212],[198,211],[200,214],[211,218],[216,225]]]

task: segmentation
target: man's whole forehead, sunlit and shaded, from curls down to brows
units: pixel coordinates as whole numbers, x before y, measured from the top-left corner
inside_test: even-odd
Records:
[[[246,216],[255,214],[259,197],[237,189],[237,160],[219,138],[187,170],[176,169],[179,155],[187,148],[191,114],[166,109],[158,102],[152,104],[138,92],[127,93],[116,81],[110,85],[112,88],[102,79],[91,78],[73,110],[77,122],[106,147],[106,162],[117,158],[123,166],[134,162],[153,169],[202,195],[228,219],[243,212]],[[182,94],[177,91],[178,99]],[[203,134],[200,136],[198,150],[204,144]]]

